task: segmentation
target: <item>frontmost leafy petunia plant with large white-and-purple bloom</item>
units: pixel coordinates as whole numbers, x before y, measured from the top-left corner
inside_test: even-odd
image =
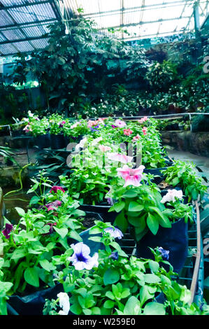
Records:
[[[55,299],[45,300],[43,315],[208,313],[207,305],[200,310],[189,304],[191,293],[173,279],[167,251],[152,250],[154,260],[128,258],[115,241],[122,237],[118,231],[110,223],[96,223],[88,239],[71,244],[69,254],[56,259],[65,266],[55,279],[62,287]],[[97,248],[95,243],[92,248],[91,241]],[[169,266],[168,272],[160,262]]]

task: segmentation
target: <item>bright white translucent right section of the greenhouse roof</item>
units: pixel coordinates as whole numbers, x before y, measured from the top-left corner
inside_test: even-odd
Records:
[[[195,0],[63,0],[65,8],[92,18],[101,31],[124,40],[168,36],[194,31],[194,5],[199,25],[208,14],[208,2]],[[115,31],[113,31],[115,29]],[[125,31],[125,32],[124,32]]]

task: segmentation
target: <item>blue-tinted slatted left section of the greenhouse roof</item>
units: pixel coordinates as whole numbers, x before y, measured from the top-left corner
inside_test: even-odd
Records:
[[[59,20],[54,0],[0,0],[0,55],[45,48],[48,25]]]

